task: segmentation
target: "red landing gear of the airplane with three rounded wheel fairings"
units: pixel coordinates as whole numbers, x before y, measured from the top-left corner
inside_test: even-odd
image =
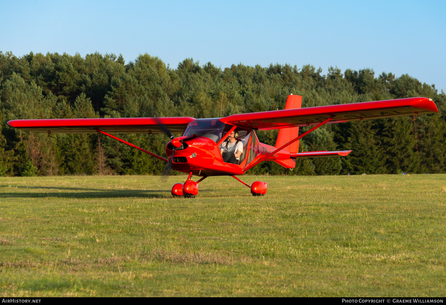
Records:
[[[207,176],[202,177],[197,182],[192,181],[192,172],[189,173],[186,182],[184,183],[175,183],[172,186],[171,194],[173,197],[179,198],[195,198],[195,195],[198,194],[198,183],[200,181],[206,179]],[[268,184],[263,181],[255,181],[252,182],[252,185],[248,185],[241,181],[239,178],[235,176],[231,176],[235,180],[240,181],[244,185],[248,186],[251,189],[252,196],[264,196],[266,191],[268,190]]]

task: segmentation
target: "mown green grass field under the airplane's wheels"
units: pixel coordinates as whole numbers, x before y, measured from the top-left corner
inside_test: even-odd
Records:
[[[0,293],[446,295],[446,175],[0,178]]]

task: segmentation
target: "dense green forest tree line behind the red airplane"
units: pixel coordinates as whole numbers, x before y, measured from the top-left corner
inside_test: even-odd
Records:
[[[287,175],[445,173],[443,91],[416,78],[372,69],[343,73],[288,64],[219,68],[186,58],[171,68],[158,57],[0,52],[0,176],[161,174],[165,164],[102,135],[24,132],[15,119],[192,116],[210,118],[284,109],[302,95],[302,107],[423,96],[439,113],[327,124],[301,140],[299,151],[347,150],[348,157],[297,160],[296,169],[263,162],[249,173]],[[305,132],[308,128],[300,128]],[[277,130],[256,132],[274,145]],[[165,135],[121,135],[165,156]]]

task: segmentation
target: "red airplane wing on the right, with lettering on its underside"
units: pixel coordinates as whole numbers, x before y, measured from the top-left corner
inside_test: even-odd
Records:
[[[232,124],[241,128],[268,130],[317,125],[330,118],[330,116],[334,116],[334,119],[329,122],[329,124],[333,124],[433,112],[438,112],[438,109],[432,99],[416,97],[243,113],[229,115],[220,120],[226,124]]]

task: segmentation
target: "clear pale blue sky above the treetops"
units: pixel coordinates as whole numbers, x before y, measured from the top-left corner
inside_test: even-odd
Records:
[[[6,1],[0,50],[409,74],[446,91],[446,1]]]

